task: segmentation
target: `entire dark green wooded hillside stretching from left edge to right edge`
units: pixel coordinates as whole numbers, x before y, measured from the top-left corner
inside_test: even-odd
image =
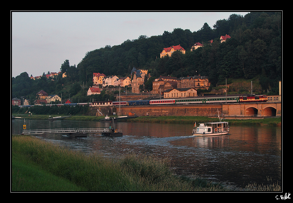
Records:
[[[231,38],[219,43],[220,36],[226,34]],[[209,43],[211,40],[213,43]],[[196,42],[204,46],[190,51]],[[160,58],[163,48],[179,44],[186,50],[185,54],[175,51],[170,57]],[[175,28],[158,36],[141,35],[135,40],[126,39],[120,45],[105,45],[85,53],[77,65],[65,59],[60,64],[61,74],[54,80],[46,77],[33,80],[27,72],[12,77],[11,99],[35,99],[36,93],[44,90],[49,95],[70,96],[73,102],[90,102],[93,96],[86,96],[86,92],[92,86],[93,73],[125,77],[130,76],[133,67],[148,70],[151,78],[145,83],[146,90],[152,90],[151,82],[159,76],[202,75],[209,77],[210,89],[225,84],[226,80],[229,84],[244,79],[257,81],[260,93],[279,94],[282,13],[232,14],[228,19],[219,19],[212,27],[204,23],[200,30],[194,32]],[[66,78],[62,78],[64,72]],[[95,97],[96,101],[115,100],[113,94],[105,91]]]

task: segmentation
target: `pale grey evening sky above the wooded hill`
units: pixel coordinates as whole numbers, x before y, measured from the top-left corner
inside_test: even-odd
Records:
[[[194,32],[204,23],[213,29],[217,20],[247,13],[11,11],[11,77],[23,72],[33,77],[48,71],[58,73],[65,60],[77,66],[87,52],[106,45],[120,45],[141,35],[158,36],[164,31],[173,32],[175,28]]]

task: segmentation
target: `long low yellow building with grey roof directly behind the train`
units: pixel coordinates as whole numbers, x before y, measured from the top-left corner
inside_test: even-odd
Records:
[[[173,88],[163,91],[163,93],[165,99],[197,96],[197,91],[193,88]]]

